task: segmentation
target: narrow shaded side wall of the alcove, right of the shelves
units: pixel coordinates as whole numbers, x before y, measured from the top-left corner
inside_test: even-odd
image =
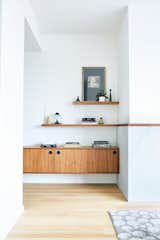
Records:
[[[128,39],[128,9],[122,19],[119,33],[119,78],[118,94],[120,106],[118,122],[129,122],[129,39]],[[119,188],[128,198],[128,127],[118,128],[118,145],[120,147]]]

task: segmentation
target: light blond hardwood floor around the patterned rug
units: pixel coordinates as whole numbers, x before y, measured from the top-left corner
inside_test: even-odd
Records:
[[[7,240],[116,240],[110,209],[160,209],[128,203],[116,185],[24,185],[25,212]]]

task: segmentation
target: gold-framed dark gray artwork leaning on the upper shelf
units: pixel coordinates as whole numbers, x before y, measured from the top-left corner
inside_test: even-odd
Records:
[[[83,100],[95,101],[99,91],[106,89],[105,67],[83,67]]]

